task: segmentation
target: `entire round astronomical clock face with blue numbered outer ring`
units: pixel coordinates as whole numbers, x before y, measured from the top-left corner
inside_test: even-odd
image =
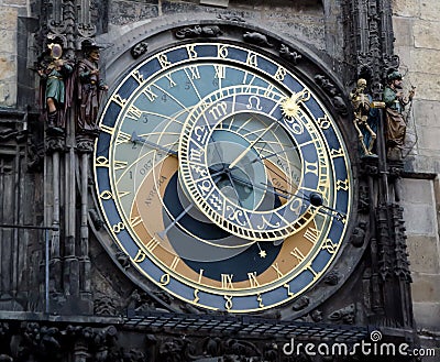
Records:
[[[96,189],[141,274],[233,312],[304,293],[338,254],[351,172],[331,114],[289,69],[228,43],[154,54],[100,120]]]

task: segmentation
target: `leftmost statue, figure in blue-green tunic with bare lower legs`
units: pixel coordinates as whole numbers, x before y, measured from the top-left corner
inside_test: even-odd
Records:
[[[66,81],[70,79],[74,67],[62,59],[61,44],[50,44],[48,48],[48,59],[43,59],[37,70],[42,79],[42,96],[44,95],[41,107],[51,132],[64,133],[65,113],[73,89],[70,85],[66,86]]]

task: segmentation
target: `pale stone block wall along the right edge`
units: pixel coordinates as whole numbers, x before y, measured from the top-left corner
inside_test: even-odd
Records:
[[[417,86],[408,119],[408,141],[416,144],[405,163],[406,171],[416,178],[405,178],[402,193],[414,311],[422,343],[439,348],[440,2],[394,0],[393,11],[395,52],[402,70],[409,70],[404,80],[407,86]]]

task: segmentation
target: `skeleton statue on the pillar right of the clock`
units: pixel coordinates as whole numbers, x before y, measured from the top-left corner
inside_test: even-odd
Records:
[[[366,80],[360,78],[356,88],[350,94],[354,110],[354,128],[364,156],[375,156],[372,152],[377,138],[377,110],[372,107],[373,98],[365,94]]]

